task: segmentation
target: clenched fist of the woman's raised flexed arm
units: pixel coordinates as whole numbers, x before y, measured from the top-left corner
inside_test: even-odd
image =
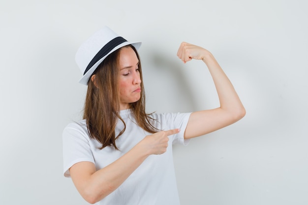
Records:
[[[209,51],[204,48],[183,42],[180,45],[177,56],[186,63],[191,59],[203,60],[207,53],[209,53]]]

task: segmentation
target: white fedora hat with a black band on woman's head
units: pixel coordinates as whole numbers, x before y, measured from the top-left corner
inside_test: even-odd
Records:
[[[129,44],[136,49],[141,46],[141,42],[129,42],[106,26],[95,32],[76,53],[76,63],[84,75],[79,83],[88,85],[97,66],[112,52]]]

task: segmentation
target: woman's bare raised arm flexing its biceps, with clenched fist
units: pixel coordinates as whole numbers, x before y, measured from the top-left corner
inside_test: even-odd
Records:
[[[208,67],[219,98],[220,106],[212,110],[193,112],[185,130],[185,139],[198,137],[228,126],[245,116],[245,108],[214,56],[206,49],[183,42],[178,57],[184,63],[202,60]]]

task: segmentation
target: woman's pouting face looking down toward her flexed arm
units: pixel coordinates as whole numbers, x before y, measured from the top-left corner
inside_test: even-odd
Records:
[[[139,60],[136,53],[130,47],[123,47],[120,50],[120,101],[121,110],[129,108],[129,103],[140,99],[140,73]]]

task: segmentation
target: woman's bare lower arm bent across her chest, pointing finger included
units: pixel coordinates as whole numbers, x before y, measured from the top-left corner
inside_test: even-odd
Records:
[[[94,204],[116,190],[151,154],[162,154],[168,146],[168,136],[179,129],[146,136],[140,143],[115,162],[100,170],[92,162],[79,162],[70,169],[70,176],[81,196]]]

